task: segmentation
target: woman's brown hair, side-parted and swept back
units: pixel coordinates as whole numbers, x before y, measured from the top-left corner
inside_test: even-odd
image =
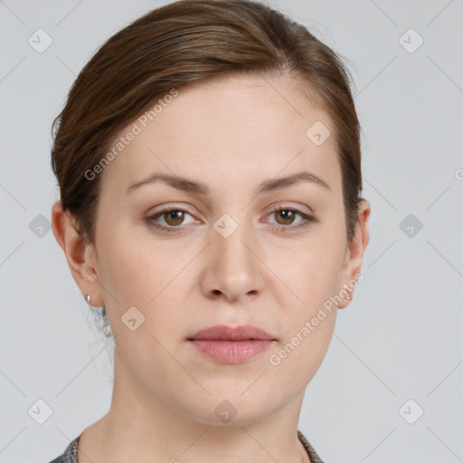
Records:
[[[118,132],[173,88],[241,72],[288,74],[334,124],[341,163],[347,240],[362,199],[360,127],[343,62],[301,24],[248,0],[180,0],[157,8],[111,36],[74,81],[52,123],[52,169],[61,204],[94,243],[100,175],[84,175]]]

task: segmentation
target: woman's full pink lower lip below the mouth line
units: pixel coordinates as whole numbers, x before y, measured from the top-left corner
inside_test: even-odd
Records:
[[[200,353],[207,355],[220,364],[241,364],[251,357],[266,351],[273,341],[256,339],[245,341],[221,341],[218,339],[191,339]]]

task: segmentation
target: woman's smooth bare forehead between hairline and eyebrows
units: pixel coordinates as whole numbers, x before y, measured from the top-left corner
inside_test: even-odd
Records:
[[[214,188],[303,169],[334,189],[340,185],[332,121],[310,104],[297,81],[233,75],[177,91],[173,99],[157,100],[164,104],[152,120],[137,118],[118,134],[137,132],[104,170],[104,189],[122,193],[153,172],[201,179]],[[313,138],[313,128],[320,127],[332,133],[322,134],[321,145]]]

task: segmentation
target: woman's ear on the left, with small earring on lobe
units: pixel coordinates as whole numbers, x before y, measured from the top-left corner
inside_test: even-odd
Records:
[[[95,248],[80,236],[74,222],[71,213],[62,210],[61,201],[52,205],[53,234],[64,251],[72,277],[84,297],[90,294],[92,306],[103,306]]]

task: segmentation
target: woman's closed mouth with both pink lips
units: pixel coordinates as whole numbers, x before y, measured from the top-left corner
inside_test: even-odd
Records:
[[[187,341],[199,354],[219,364],[241,364],[262,354],[277,341],[258,326],[211,326],[198,331]]]

